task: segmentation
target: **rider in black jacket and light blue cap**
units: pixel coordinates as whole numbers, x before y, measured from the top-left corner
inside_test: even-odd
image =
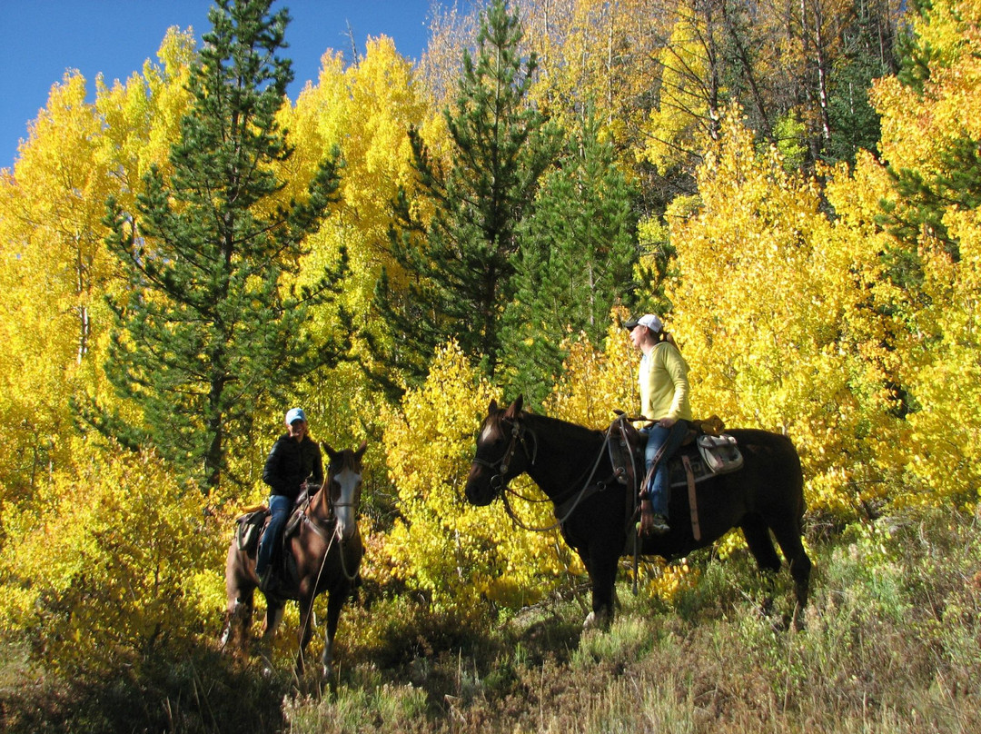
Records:
[[[324,461],[320,446],[310,438],[306,414],[302,408],[291,408],[285,417],[286,433],[277,439],[262,470],[262,481],[272,488],[269,509],[272,518],[259,544],[255,573],[259,588],[270,591],[280,565],[283,528],[303,485],[320,486],[324,482]]]

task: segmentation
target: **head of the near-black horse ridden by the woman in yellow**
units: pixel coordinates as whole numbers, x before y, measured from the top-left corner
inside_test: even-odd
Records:
[[[490,504],[511,479],[527,469],[522,404],[521,395],[507,408],[497,407],[496,400],[490,401],[488,417],[477,434],[477,451],[464,489],[471,504]]]

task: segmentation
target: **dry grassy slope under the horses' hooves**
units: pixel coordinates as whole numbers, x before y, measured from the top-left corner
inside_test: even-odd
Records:
[[[484,625],[406,599],[354,607],[326,684],[292,680],[284,650],[284,670],[270,677],[254,662],[205,652],[141,680],[83,687],[45,678],[8,644],[0,648],[0,728],[978,731],[978,531],[974,517],[931,511],[815,545],[800,632],[790,624],[786,573],[765,579],[748,557],[704,553],[689,559],[697,582],[670,603],[634,597],[624,582],[606,633],[582,632],[582,599],[569,595]]]

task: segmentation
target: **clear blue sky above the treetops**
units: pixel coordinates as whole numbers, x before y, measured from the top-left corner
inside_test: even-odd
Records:
[[[365,41],[387,35],[403,56],[418,61],[429,37],[433,0],[276,0],[289,9],[284,52],[293,61],[296,99],[307,79],[316,81],[327,49],[349,53],[350,26],[359,53]],[[453,0],[437,0],[452,7]],[[127,79],[156,61],[170,26],[194,28],[200,38],[211,0],[0,0],[0,168],[14,164],[27,124],[48,101],[51,85],[77,69],[94,95],[102,73]]]

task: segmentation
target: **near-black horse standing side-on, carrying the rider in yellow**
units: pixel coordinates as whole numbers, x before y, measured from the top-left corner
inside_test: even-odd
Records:
[[[696,540],[688,493],[671,493],[671,531],[646,538],[642,554],[681,557],[742,529],[760,568],[777,571],[776,538],[790,563],[797,612],[807,603],[810,559],[801,543],[804,511],[800,458],[790,440],[756,430],[727,431],[739,442],[744,466],[697,486],[699,539]],[[616,481],[607,434],[574,423],[522,410],[518,397],[507,408],[491,401],[477,438],[466,497],[490,504],[507,483],[527,473],[555,504],[566,542],[579,553],[593,586],[593,612],[587,626],[606,626],[613,618],[618,559],[628,550],[633,498]],[[628,501],[630,505],[628,505]],[[629,528],[628,528],[629,525]]]

